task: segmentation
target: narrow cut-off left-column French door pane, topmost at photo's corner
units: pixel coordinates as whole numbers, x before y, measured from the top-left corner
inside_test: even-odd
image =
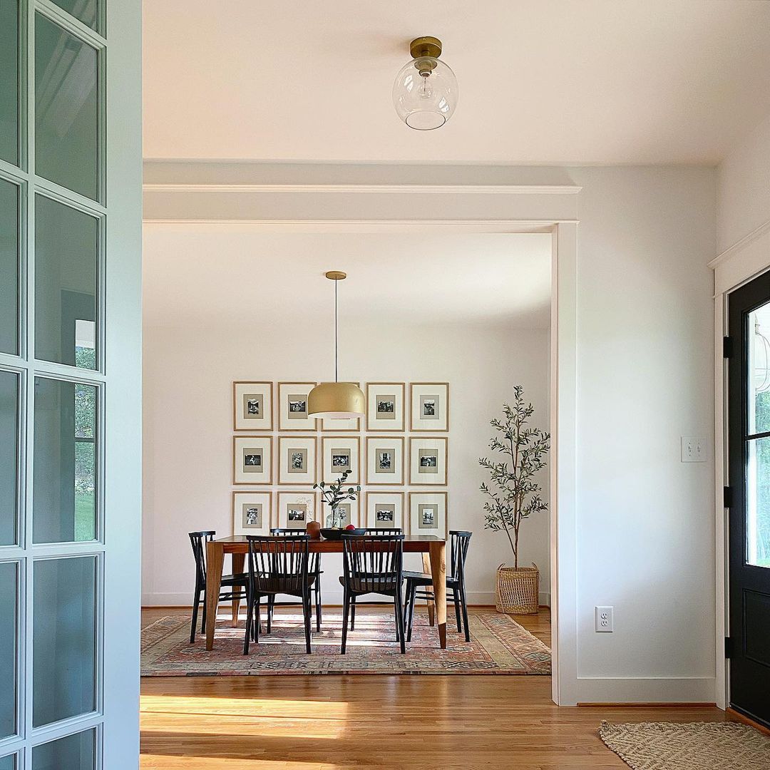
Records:
[[[0,158],[18,166],[18,2],[0,2]]]

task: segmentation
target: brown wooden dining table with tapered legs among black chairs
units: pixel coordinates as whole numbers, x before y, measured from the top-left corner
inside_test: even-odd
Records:
[[[341,540],[311,540],[311,554],[341,554]],[[423,554],[423,572],[433,577],[434,601],[428,602],[428,620],[438,628],[438,641],[447,648],[447,541],[433,534],[411,534],[403,538],[405,554]],[[233,574],[243,572],[249,544],[243,535],[219,537],[206,544],[206,649],[214,648],[216,611],[222,585],[225,554],[233,554]],[[233,600],[233,628],[238,624],[240,600]]]

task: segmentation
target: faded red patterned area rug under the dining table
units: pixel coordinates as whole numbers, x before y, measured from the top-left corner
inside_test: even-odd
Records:
[[[363,608],[362,608],[363,610]],[[452,618],[454,620],[454,618]],[[302,615],[293,608],[276,616],[273,633],[260,635],[243,655],[243,614],[238,628],[217,621],[214,649],[204,639],[189,643],[189,614],[169,614],[142,629],[142,676],[244,676],[252,674],[550,674],[551,651],[516,621],[494,611],[470,615],[470,643],[447,623],[447,649],[424,616],[414,618],[407,654],[395,641],[393,616],[359,611],[340,654],[342,614],[323,613],[313,654],[305,653]],[[263,624],[264,630],[264,624]]]

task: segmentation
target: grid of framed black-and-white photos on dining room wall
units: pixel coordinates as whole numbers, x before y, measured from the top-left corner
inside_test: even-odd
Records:
[[[361,492],[343,504],[343,526],[447,537],[449,383],[366,383],[367,413],[355,420],[310,417],[315,385],[233,382],[233,534],[326,526],[313,484],[350,470]]]

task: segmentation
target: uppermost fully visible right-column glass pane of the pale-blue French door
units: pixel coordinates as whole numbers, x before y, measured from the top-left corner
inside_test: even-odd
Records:
[[[96,52],[35,15],[35,173],[95,199]]]

